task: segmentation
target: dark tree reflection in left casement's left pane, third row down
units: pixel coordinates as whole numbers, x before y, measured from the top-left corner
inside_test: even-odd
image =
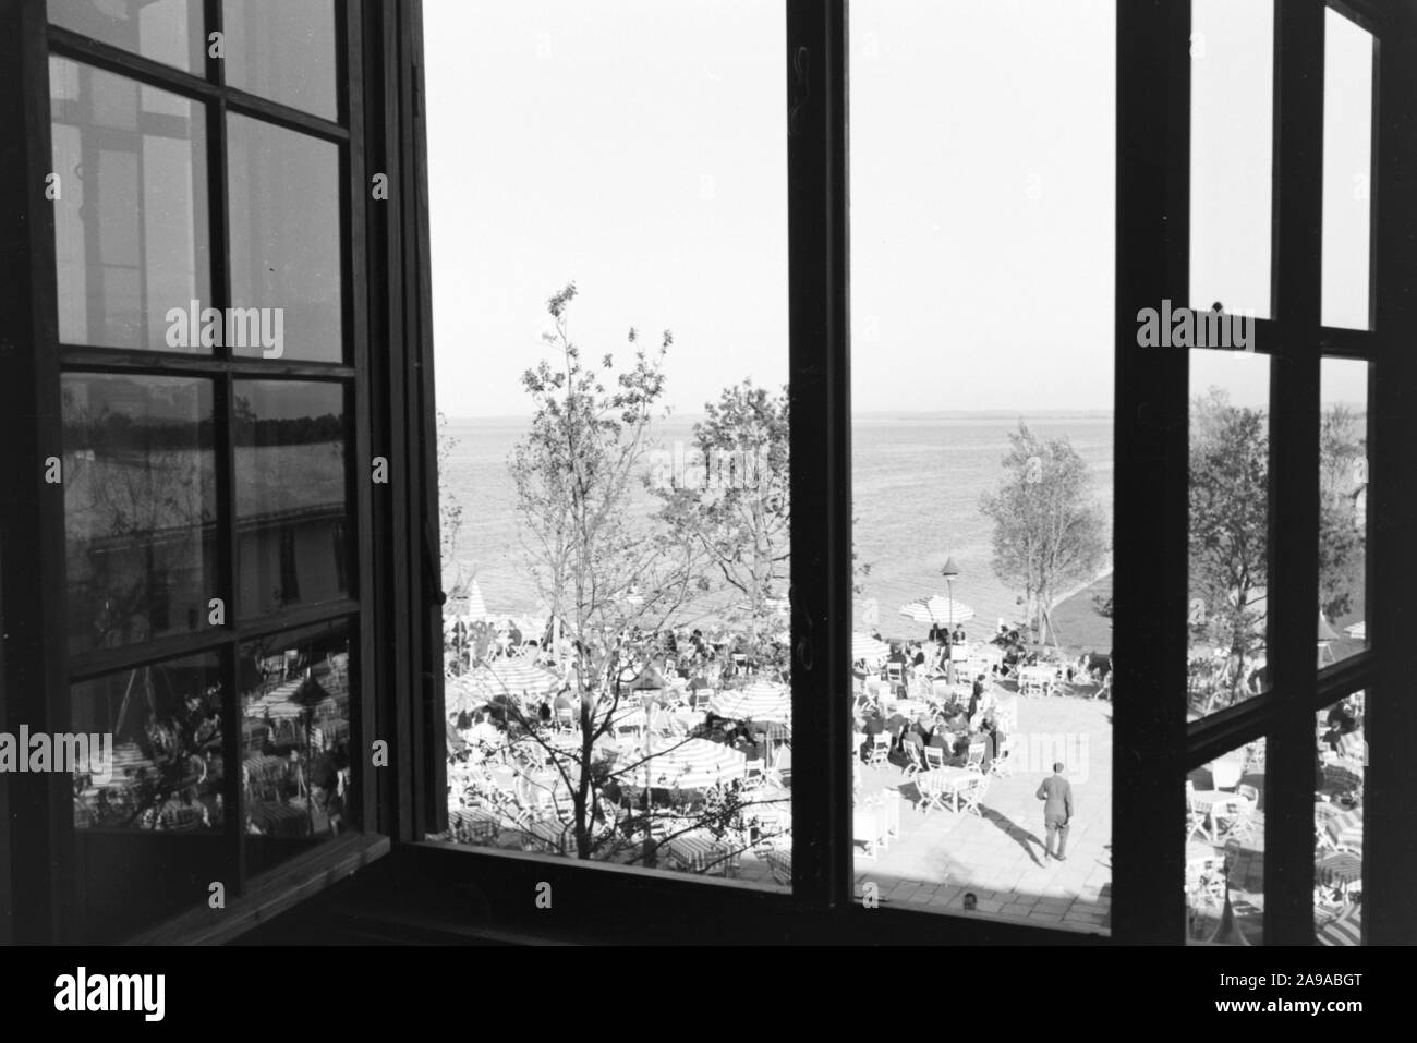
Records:
[[[65,390],[65,522],[85,645],[146,641],[184,626],[170,592],[200,584],[205,529],[214,523],[213,456],[197,422],[147,424]],[[196,621],[191,622],[196,625]],[[75,635],[79,636],[79,635]]]

